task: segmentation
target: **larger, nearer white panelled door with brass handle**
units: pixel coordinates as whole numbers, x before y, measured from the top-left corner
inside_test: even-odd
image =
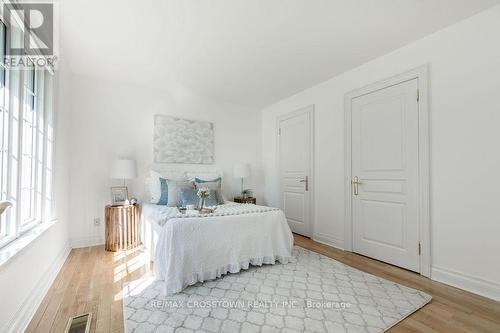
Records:
[[[417,95],[414,79],[351,101],[351,172],[353,251],[420,272]]]

